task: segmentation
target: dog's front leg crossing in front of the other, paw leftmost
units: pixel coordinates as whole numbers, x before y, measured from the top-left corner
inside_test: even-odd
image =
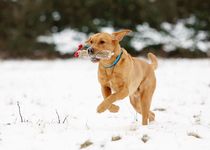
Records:
[[[106,109],[109,109],[112,105],[117,100],[121,100],[128,96],[128,89],[126,87],[123,87],[119,92],[116,92],[114,94],[109,95],[105,100],[98,106],[97,112],[102,113]]]

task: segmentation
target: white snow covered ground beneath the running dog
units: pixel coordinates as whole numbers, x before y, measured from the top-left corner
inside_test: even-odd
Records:
[[[87,140],[91,150],[209,150],[210,60],[160,60],[156,75],[156,121],[142,126],[128,98],[119,113],[96,113],[96,64],[0,61],[0,150],[76,150]]]

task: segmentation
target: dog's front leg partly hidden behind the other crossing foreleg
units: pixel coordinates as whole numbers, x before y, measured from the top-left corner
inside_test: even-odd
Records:
[[[102,91],[104,99],[106,99],[109,95],[111,95],[111,89],[109,87],[102,87],[101,91]],[[112,113],[118,112],[119,109],[120,107],[115,104],[111,104],[111,106],[108,108],[108,110]]]

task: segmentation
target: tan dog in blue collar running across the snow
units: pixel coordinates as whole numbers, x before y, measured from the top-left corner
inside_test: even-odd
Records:
[[[92,35],[86,43],[90,45],[89,55],[94,56],[101,50],[110,50],[114,55],[109,60],[99,60],[92,57],[93,62],[99,62],[98,80],[104,97],[98,106],[97,112],[102,113],[106,109],[110,112],[118,112],[119,106],[113,104],[129,96],[134,109],[142,114],[142,124],[147,125],[155,119],[155,114],[150,111],[152,95],[156,87],[154,70],[157,68],[157,58],[152,53],[148,54],[152,63],[132,57],[120,47],[119,42],[130,30],[122,30]],[[117,61],[118,60],[118,61]]]

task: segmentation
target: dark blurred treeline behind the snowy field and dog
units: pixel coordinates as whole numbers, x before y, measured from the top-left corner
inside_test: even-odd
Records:
[[[40,35],[50,35],[71,27],[85,33],[98,32],[101,27],[129,28],[144,22],[162,30],[162,22],[176,23],[179,19],[196,17],[188,28],[205,31],[210,40],[210,0],[0,0],[0,56],[49,57],[60,56],[54,45],[38,43]],[[133,55],[143,54],[130,44],[123,46]],[[162,45],[149,47],[165,57],[205,57],[205,53],[177,48],[166,53]],[[63,56],[61,56],[63,57]],[[65,57],[65,56],[64,56]]]

